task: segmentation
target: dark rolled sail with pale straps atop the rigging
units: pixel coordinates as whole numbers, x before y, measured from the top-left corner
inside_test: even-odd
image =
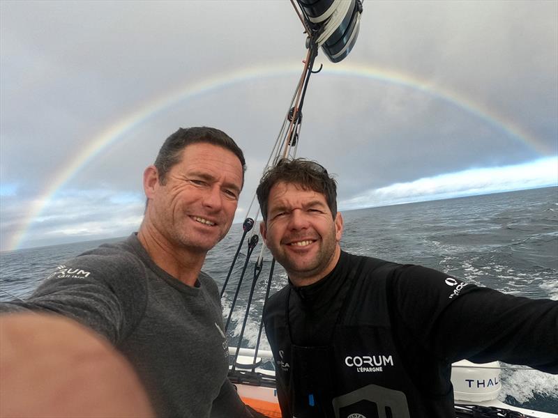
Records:
[[[324,54],[334,63],[344,59],[359,36],[361,0],[296,1]]]

